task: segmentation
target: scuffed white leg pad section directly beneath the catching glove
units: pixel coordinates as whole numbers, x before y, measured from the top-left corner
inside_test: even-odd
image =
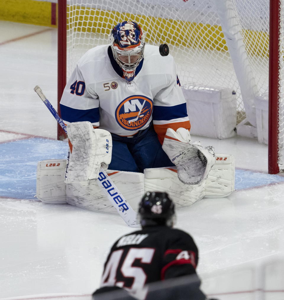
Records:
[[[193,204],[205,196],[205,180],[200,184],[182,183],[173,168],[151,168],[144,170],[144,191],[163,191],[169,194],[176,207]]]

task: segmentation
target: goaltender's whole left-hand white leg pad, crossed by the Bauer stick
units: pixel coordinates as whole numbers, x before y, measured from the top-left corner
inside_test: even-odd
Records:
[[[105,193],[113,194],[107,180],[105,190],[92,179],[87,182],[65,183],[66,160],[51,159],[39,161],[37,167],[36,197],[45,203],[68,203],[92,211],[117,213]],[[144,194],[143,173],[107,170],[106,173],[122,193],[126,201],[138,211],[138,204]]]

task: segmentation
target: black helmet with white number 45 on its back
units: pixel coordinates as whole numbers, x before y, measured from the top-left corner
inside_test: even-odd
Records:
[[[138,215],[142,227],[172,227],[175,221],[175,205],[167,193],[147,192],[139,203]]]

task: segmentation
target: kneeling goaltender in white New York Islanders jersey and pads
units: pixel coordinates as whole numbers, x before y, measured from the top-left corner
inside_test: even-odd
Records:
[[[168,193],[179,208],[234,190],[234,157],[191,140],[173,56],[146,44],[136,22],[117,24],[109,44],[82,56],[60,107],[70,152],[38,163],[42,202],[118,211],[138,226],[147,191]]]

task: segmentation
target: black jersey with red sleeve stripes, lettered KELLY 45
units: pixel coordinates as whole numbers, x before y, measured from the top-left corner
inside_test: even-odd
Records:
[[[196,274],[198,249],[186,232],[147,226],[119,238],[105,262],[101,287],[133,291],[147,283]]]

